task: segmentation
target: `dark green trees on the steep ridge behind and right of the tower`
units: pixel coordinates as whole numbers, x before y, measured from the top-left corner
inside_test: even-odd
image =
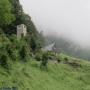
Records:
[[[27,43],[29,48],[32,51],[36,51],[40,49],[43,44],[43,36],[37,31],[36,26],[34,25],[31,17],[23,12],[23,8],[19,2],[19,0],[9,0],[11,4],[12,14],[15,16],[15,20],[7,26],[4,26],[2,29],[4,33],[8,36],[12,34],[16,34],[16,27],[19,24],[25,24],[27,26]]]

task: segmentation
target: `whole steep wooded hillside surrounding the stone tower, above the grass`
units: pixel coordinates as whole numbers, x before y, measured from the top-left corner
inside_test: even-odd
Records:
[[[27,35],[17,39],[17,25],[25,24]],[[31,17],[23,12],[19,0],[0,1],[0,64],[9,69],[13,61],[27,61],[43,44]]]

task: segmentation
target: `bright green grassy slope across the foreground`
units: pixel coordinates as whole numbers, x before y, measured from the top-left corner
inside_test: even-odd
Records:
[[[61,55],[61,59],[66,57]],[[48,69],[41,70],[40,62],[12,63],[7,72],[0,68],[0,87],[17,86],[19,90],[90,90],[90,62],[68,57],[70,61],[81,64],[73,67],[69,64],[49,61]]]

